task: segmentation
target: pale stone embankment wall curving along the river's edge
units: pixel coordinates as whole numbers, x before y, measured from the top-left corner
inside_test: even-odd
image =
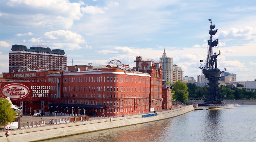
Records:
[[[80,133],[111,129],[115,127],[122,127],[122,126],[152,122],[157,120],[163,120],[163,119],[182,115],[192,110],[194,110],[194,107],[192,105],[189,105],[189,106],[183,106],[181,108],[177,108],[173,110],[161,111],[156,113],[148,113],[148,114],[155,114],[152,117],[142,117],[145,114],[137,114],[137,115],[131,115],[131,116],[125,116],[125,117],[112,118],[112,121],[110,121],[109,119],[98,119],[98,120],[96,119],[91,121],[79,121],[79,122],[73,122],[73,123],[71,122],[66,124],[20,129],[16,131],[11,131],[10,136],[7,136],[6,132],[0,133],[0,141],[1,142],[38,141],[43,139],[62,137],[67,135],[75,135]]]

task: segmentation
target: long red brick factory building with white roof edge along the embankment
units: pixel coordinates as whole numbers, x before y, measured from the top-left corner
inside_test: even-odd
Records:
[[[49,86],[47,99],[24,97],[17,102],[11,99],[17,106],[22,106],[23,113],[31,113],[31,107],[31,110],[40,109],[46,113],[62,111],[68,114],[121,116],[169,108],[169,94],[166,96],[169,97],[168,103],[163,105],[162,74],[160,62],[144,61],[138,56],[136,67],[130,70],[114,64],[68,66],[66,72],[27,70],[4,73],[3,77],[5,84],[16,80],[30,83],[28,88],[33,84]],[[5,98],[3,94],[1,97]]]

